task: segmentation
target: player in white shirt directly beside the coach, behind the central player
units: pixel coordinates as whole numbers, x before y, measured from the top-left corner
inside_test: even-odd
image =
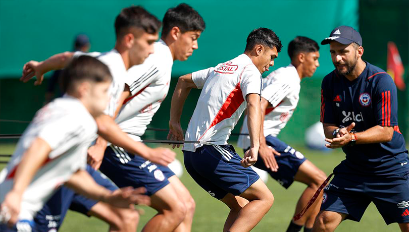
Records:
[[[279,68],[263,80],[261,95],[262,129],[260,136],[259,159],[254,166],[268,171],[284,188],[290,187],[294,181],[306,184],[297,202],[295,213],[308,203],[315,191],[325,181],[323,171],[307,160],[299,151],[280,141],[277,136],[285,127],[294,112],[300,91],[300,81],[311,77],[319,67],[320,47],[317,42],[303,36],[297,36],[288,45],[291,64]],[[247,117],[244,118],[242,134],[248,134]],[[244,149],[250,147],[250,137],[240,135],[237,145]],[[279,156],[275,156],[275,155]],[[320,196],[321,199],[322,196]],[[287,232],[304,232],[312,230],[314,220],[320,210],[320,202],[301,219],[291,221]]]

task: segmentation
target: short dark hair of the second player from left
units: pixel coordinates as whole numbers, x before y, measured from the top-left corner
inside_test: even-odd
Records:
[[[161,28],[161,21],[143,9],[143,7],[132,6],[122,9],[115,19],[117,38],[123,35],[124,30],[130,27],[143,29],[149,34],[156,34]]]

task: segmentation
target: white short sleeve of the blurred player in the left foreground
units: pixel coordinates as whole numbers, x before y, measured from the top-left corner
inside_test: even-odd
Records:
[[[85,128],[77,120],[72,115],[67,115],[58,120],[47,122],[38,133],[38,137],[47,142],[52,150],[67,147],[67,144],[77,141],[85,131]]]

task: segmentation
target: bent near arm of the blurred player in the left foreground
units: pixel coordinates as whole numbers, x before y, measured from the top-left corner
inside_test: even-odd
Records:
[[[6,218],[8,221],[5,222],[9,224],[15,224],[17,222],[23,193],[34,178],[35,173],[47,159],[51,150],[47,142],[36,138],[24,153],[16,170],[13,188],[6,195],[1,205],[0,211],[2,214],[8,215],[8,218]]]

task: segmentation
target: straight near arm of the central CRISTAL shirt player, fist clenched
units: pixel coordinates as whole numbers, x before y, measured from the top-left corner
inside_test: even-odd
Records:
[[[249,167],[257,161],[260,147],[260,127],[261,127],[261,106],[260,95],[250,93],[246,96],[247,101],[247,126],[250,135],[250,149],[244,154],[241,160],[243,167]]]

